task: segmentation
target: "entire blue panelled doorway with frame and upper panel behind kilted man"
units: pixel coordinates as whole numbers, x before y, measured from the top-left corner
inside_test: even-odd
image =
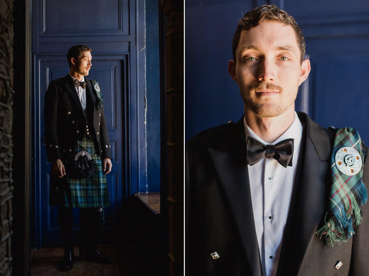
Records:
[[[139,190],[138,145],[145,136],[138,131],[136,114],[138,86],[143,82],[143,66],[137,63],[136,38],[142,37],[139,24],[143,6],[132,0],[35,0],[32,1],[32,248],[60,245],[57,209],[48,206],[51,163],[46,161],[44,137],[44,96],[49,82],[69,73],[66,53],[72,45],[92,48],[92,69],[88,79],[99,82],[112,151],[113,168],[107,175],[110,207],[104,209],[106,224],[101,242],[109,242],[120,232],[125,199]],[[142,21],[143,24],[143,21]],[[132,73],[131,73],[132,72]],[[131,86],[131,83],[134,83]],[[143,85],[142,85],[143,87]],[[138,140],[137,137],[142,139]],[[77,243],[79,210],[75,208],[73,242]]]

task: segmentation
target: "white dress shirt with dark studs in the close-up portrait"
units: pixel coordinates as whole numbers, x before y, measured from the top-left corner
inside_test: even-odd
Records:
[[[265,276],[275,276],[292,198],[303,127],[295,112],[294,121],[286,132],[273,143],[267,143],[249,128],[245,119],[244,125],[246,140],[251,136],[264,145],[275,145],[284,139],[294,139],[292,167],[284,168],[274,158],[264,158],[252,166],[248,165],[252,210],[263,272]]]

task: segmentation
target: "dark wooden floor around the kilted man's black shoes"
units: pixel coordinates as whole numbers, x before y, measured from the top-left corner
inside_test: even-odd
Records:
[[[63,258],[63,248],[43,248],[31,251],[31,276],[162,276],[159,263],[152,256],[140,252],[134,245],[101,245],[99,251],[113,259],[113,264],[85,262],[78,258],[78,247],[74,248],[73,269],[67,272],[58,270]],[[155,258],[154,258],[155,260]],[[156,270],[156,271],[155,271]]]

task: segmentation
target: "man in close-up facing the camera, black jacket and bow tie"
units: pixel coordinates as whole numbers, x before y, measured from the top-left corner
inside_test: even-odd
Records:
[[[300,28],[263,5],[232,49],[245,115],[186,144],[186,275],[369,275],[367,148],[294,111],[310,72]]]

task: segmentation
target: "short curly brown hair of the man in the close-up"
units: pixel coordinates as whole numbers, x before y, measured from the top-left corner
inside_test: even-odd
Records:
[[[267,4],[248,11],[239,20],[232,41],[232,53],[234,62],[236,62],[236,48],[241,37],[241,32],[243,30],[250,30],[251,27],[256,27],[262,21],[277,21],[293,28],[296,33],[297,44],[300,48],[300,60],[302,63],[302,61],[304,60],[306,45],[299,25],[297,25],[295,19],[285,11],[280,10],[277,6]]]

